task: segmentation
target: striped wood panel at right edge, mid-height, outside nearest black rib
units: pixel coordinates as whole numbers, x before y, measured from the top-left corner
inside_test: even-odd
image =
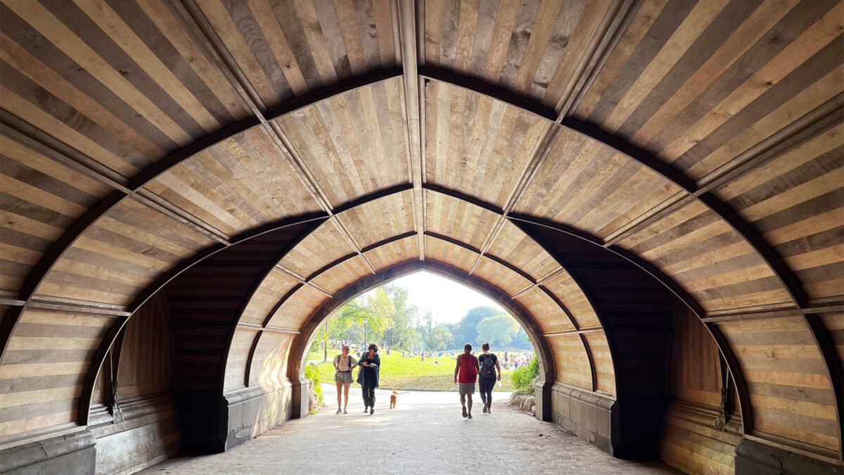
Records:
[[[840,122],[830,124],[713,192],[782,255],[809,298],[838,295],[844,285],[835,238],[844,227],[841,134]]]

